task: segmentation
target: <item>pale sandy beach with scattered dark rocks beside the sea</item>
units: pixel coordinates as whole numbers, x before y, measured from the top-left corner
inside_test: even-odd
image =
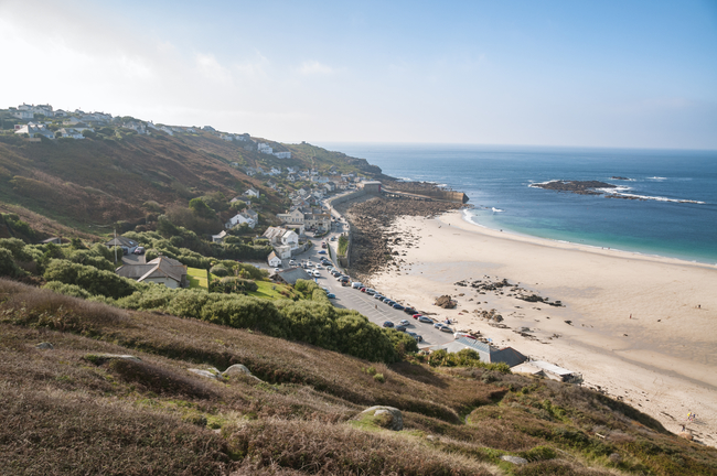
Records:
[[[402,217],[394,228],[405,237],[393,247],[403,262],[373,275],[373,288],[432,317],[457,320],[459,331],[480,331],[497,346],[579,371],[586,386],[672,432],[684,423],[696,440],[717,446],[716,266],[501,232],[465,221],[461,212]],[[521,301],[507,289],[479,294],[454,285],[486,277],[564,306]],[[442,294],[458,306],[434,305]],[[507,328],[473,313],[492,309]],[[523,327],[529,337],[516,333]]]

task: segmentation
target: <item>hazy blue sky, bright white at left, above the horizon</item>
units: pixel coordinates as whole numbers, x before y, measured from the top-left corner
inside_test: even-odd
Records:
[[[717,150],[717,0],[0,0],[0,108],[280,142]]]

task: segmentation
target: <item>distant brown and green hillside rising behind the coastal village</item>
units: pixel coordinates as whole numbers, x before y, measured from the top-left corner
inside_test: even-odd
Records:
[[[286,195],[307,185],[285,181],[287,167],[381,175],[381,170],[365,160],[307,143],[227,141],[215,131],[193,128],[193,132],[178,128],[182,132],[172,136],[163,131],[139,134],[122,123],[116,118],[97,126],[84,140],[42,138],[30,142],[11,131],[0,134],[0,202],[4,210],[18,213],[36,228],[32,213],[55,220],[57,230],[68,226],[93,232],[92,226],[97,230],[97,226],[119,220],[141,223],[148,213],[142,206],[147,202],[167,209],[186,206],[191,198],[207,194],[232,198],[248,187],[265,195],[266,212],[283,212]],[[257,142],[291,152],[291,158],[259,152]],[[274,166],[282,174],[274,178],[247,175],[247,170],[257,166]],[[269,178],[280,186],[266,186]]]

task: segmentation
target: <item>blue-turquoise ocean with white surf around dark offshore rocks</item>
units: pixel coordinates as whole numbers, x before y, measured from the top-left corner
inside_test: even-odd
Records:
[[[717,151],[323,143],[387,175],[464,192],[475,225],[553,240],[717,263]],[[628,180],[614,180],[613,176]],[[531,186],[600,181],[616,196]]]

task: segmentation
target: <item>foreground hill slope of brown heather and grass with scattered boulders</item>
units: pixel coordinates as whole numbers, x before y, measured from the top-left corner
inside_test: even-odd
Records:
[[[715,448],[580,387],[419,358],[373,364],[7,280],[0,301],[8,475],[717,472]],[[234,364],[256,378],[189,371]],[[374,404],[402,410],[404,429],[360,415]]]

